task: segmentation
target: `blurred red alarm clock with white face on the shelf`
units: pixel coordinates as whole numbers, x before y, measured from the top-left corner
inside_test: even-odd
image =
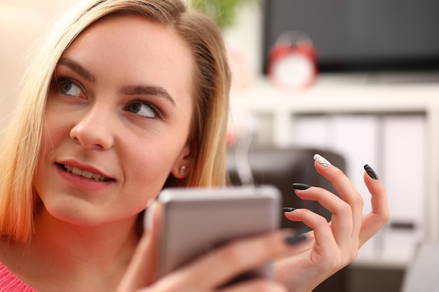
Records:
[[[269,51],[267,75],[273,85],[286,89],[306,88],[317,76],[316,49],[303,32],[288,31]]]

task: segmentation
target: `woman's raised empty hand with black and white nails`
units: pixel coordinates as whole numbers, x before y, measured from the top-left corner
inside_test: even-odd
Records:
[[[316,200],[332,212],[330,223],[307,209],[285,209],[292,221],[303,221],[313,231],[306,233],[302,252],[278,260],[275,279],[289,291],[312,291],[356,258],[358,249],[389,220],[384,186],[372,168],[365,165],[363,179],[372,194],[372,211],[363,217],[363,198],[341,170],[320,155],[315,155],[317,172],[331,181],[340,197],[323,188],[301,183],[293,185],[303,200]]]

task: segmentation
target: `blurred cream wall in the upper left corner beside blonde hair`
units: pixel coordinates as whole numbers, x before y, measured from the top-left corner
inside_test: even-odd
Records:
[[[0,137],[18,95],[25,54],[51,22],[78,1],[0,1]]]

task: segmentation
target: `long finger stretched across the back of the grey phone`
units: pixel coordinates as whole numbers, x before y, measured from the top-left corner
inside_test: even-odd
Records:
[[[275,258],[285,256],[297,244],[288,243],[291,230],[270,232],[256,237],[238,239],[194,260],[159,281],[159,291],[181,288],[206,290],[222,286],[236,276],[262,267]],[[215,271],[215,272],[212,272]]]

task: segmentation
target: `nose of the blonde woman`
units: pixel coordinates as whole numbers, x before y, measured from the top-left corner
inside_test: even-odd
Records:
[[[114,134],[110,123],[111,114],[97,105],[90,107],[80,116],[70,130],[70,137],[88,150],[107,150],[114,144]]]

